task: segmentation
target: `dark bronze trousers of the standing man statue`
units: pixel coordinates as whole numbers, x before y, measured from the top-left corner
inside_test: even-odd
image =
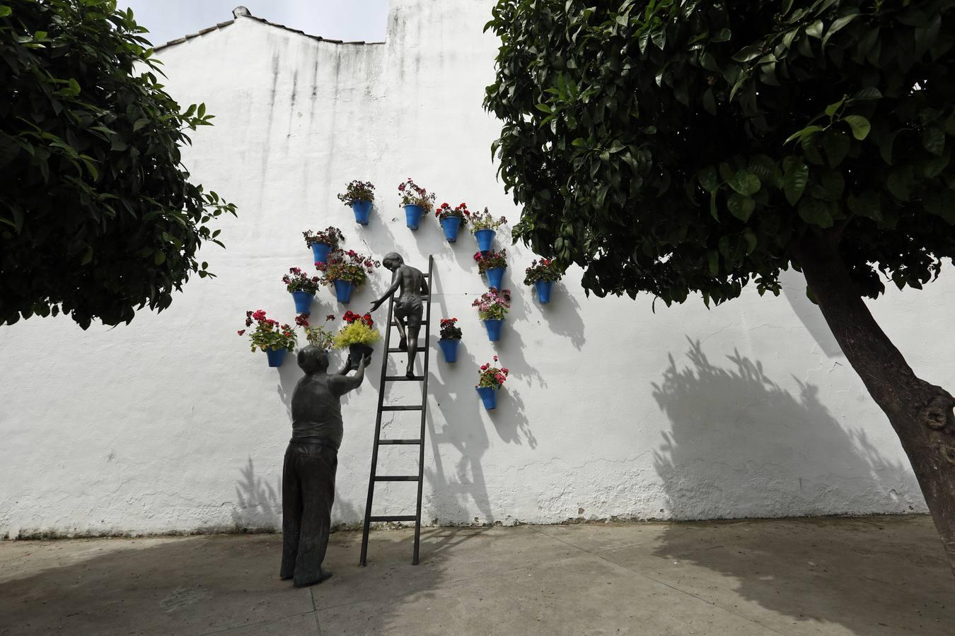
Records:
[[[338,451],[329,445],[289,441],[282,469],[282,569],[295,585],[315,583],[329,544]]]

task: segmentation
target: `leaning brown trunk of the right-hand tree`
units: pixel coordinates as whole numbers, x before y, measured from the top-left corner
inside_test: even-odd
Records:
[[[801,239],[798,265],[842,353],[895,429],[955,574],[955,399],[912,372],[872,318],[838,253],[838,233]]]

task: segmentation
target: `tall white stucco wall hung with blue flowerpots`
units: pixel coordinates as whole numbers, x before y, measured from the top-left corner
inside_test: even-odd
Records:
[[[490,159],[499,125],[480,106],[491,4],[393,0],[380,45],[245,18],[159,51],[169,91],[216,114],[187,162],[239,217],[222,222],[227,250],[203,253],[219,277],[190,282],[168,311],[85,332],[64,318],[0,327],[0,536],[277,526],[300,372],[291,358],[266,367],[236,330],[246,309],[293,318],[280,279],[310,262],[302,231],[329,224],[378,257],[397,246],[423,269],[434,254],[435,322],[464,329],[456,365],[432,351],[428,521],[924,510],[899,442],[795,273],[777,298],[747,291],[711,311],[693,300],[653,313],[650,297],[585,297],[572,271],[541,307],[520,284],[533,256],[508,248],[514,308],[488,341],[470,306],[485,289],[474,239],[449,245],[433,218],[412,233],[395,187],[411,175],[439,202],[518,217]],[[365,228],[335,198],[352,178],[378,188]],[[328,290],[319,298],[316,315],[344,311]],[[872,307],[923,378],[952,383],[955,340],[932,336],[955,307],[949,270]],[[494,353],[512,376],[489,414],[474,384]],[[345,400],[337,523],[363,514],[380,360],[379,347],[370,381]],[[414,416],[395,421],[414,427]],[[413,449],[383,448],[382,466],[414,470]],[[414,484],[379,488],[376,514],[413,510]]]

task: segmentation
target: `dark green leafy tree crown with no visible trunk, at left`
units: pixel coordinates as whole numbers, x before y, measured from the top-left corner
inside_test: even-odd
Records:
[[[145,32],[115,0],[0,0],[0,324],[128,323],[212,276],[235,207],[180,158],[212,115],[162,90]]]

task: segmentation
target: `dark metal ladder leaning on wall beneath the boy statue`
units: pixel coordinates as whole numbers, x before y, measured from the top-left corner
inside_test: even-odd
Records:
[[[407,378],[406,376],[389,376],[388,360],[392,354],[405,353],[397,347],[392,348],[392,328],[397,324],[394,321],[394,296],[388,299],[388,329],[385,332],[385,355],[381,360],[381,382],[378,385],[378,413],[374,420],[374,444],[371,447],[371,476],[368,481],[368,503],[365,504],[365,525],[361,537],[361,561],[366,564],[368,556],[368,532],[371,528],[371,522],[414,522],[414,557],[412,564],[418,563],[418,545],[421,538],[421,486],[424,481],[424,425],[425,417],[428,414],[428,354],[431,349],[431,297],[434,293],[432,284],[432,272],[435,268],[435,257],[428,256],[428,273],[424,275],[428,282],[428,297],[422,298],[428,303],[425,310],[424,319],[421,326],[424,327],[424,341],[420,340],[421,334],[418,334],[418,352],[424,353],[423,367],[420,376]],[[421,403],[414,405],[392,406],[385,405],[385,389],[390,382],[421,382]],[[381,414],[385,411],[421,411],[421,429],[417,439],[413,440],[382,440],[381,439]],[[418,447],[418,474],[417,475],[387,475],[379,476],[378,470],[378,446],[380,444],[407,444],[417,445]],[[371,503],[374,499],[374,484],[376,482],[417,482],[417,505],[414,509],[414,515],[372,515]]]

